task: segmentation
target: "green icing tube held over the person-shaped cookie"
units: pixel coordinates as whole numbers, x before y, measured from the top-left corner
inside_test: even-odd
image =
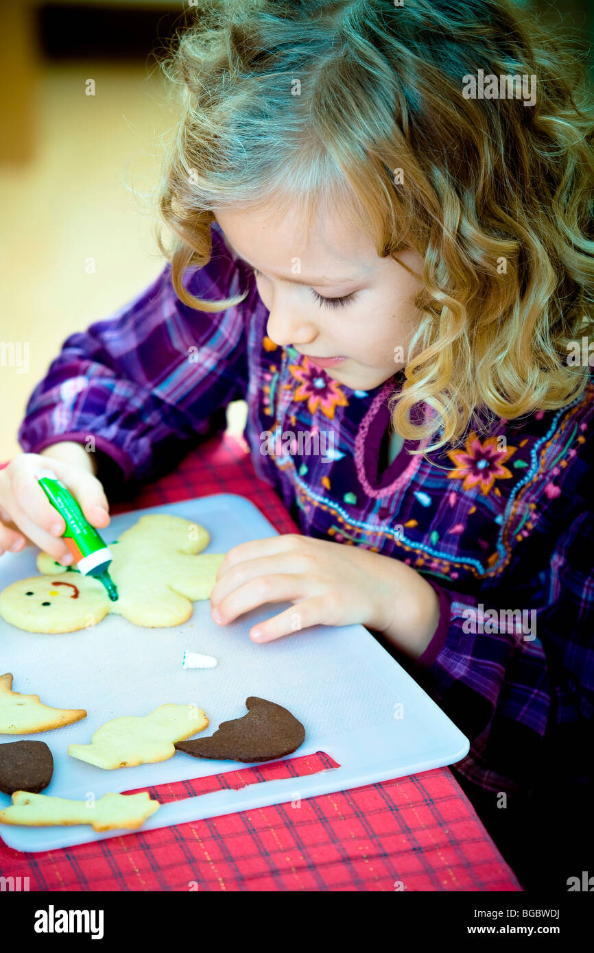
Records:
[[[72,493],[53,473],[53,470],[38,470],[35,476],[51,505],[66,523],[63,538],[72,553],[79,573],[83,576],[92,576],[102,582],[108,596],[115,602],[117,588],[108,572],[113,557],[105,542],[85,517],[72,497]]]

